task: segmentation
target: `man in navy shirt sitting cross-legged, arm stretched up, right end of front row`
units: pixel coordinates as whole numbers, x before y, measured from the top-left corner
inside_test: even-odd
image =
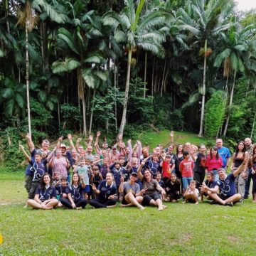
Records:
[[[208,196],[213,200],[211,203],[220,203],[223,206],[233,206],[233,203],[237,203],[241,199],[240,193],[236,193],[235,190],[235,177],[245,168],[247,164],[248,156],[245,156],[245,160],[236,169],[233,174],[226,174],[225,169],[218,169],[219,180],[216,183],[215,188],[208,188],[202,186],[203,190],[206,190]],[[220,193],[217,192],[220,190]]]

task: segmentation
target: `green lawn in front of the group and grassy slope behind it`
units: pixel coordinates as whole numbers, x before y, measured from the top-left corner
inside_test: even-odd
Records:
[[[206,143],[176,133],[178,143]],[[167,144],[169,131],[141,134]],[[23,173],[0,174],[0,255],[255,255],[256,204],[166,203],[168,208],[31,210]]]

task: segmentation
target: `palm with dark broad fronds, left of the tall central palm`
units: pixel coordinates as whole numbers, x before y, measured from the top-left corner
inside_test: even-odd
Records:
[[[70,4],[71,8],[73,6]],[[85,109],[85,85],[94,88],[97,80],[107,80],[107,71],[104,68],[105,58],[100,53],[88,54],[88,44],[93,33],[94,11],[83,13],[83,5],[80,9],[73,9],[74,33],[65,28],[58,30],[56,46],[63,51],[64,60],[57,60],[52,64],[53,73],[70,72],[76,70],[78,81],[78,97],[82,100],[83,134],[87,135],[86,109]]]

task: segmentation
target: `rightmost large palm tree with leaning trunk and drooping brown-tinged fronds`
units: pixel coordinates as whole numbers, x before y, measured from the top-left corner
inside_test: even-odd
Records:
[[[224,137],[227,133],[230,110],[233,104],[236,75],[239,71],[244,72],[245,67],[247,66],[248,69],[250,65],[251,53],[249,46],[253,44],[252,41],[255,42],[255,38],[250,38],[252,28],[255,28],[255,25],[242,28],[239,23],[234,23],[233,26],[230,26],[228,29],[228,33],[220,33],[223,39],[223,47],[221,52],[216,56],[214,65],[219,68],[224,62],[225,73],[229,73],[229,70],[233,71],[233,85],[230,91],[228,116],[223,131]],[[253,48],[251,50],[253,50]],[[250,68],[253,69],[253,66]]]

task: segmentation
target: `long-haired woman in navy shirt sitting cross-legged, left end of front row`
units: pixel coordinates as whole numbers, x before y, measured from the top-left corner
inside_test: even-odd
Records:
[[[52,180],[49,174],[44,174],[41,184],[36,189],[34,199],[28,199],[28,206],[34,209],[51,210],[58,205],[56,191],[52,186]]]

